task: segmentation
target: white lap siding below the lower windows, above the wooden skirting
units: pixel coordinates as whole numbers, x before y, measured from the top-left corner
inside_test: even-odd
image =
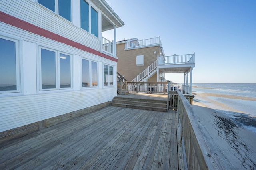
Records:
[[[116,88],[0,97],[0,132],[108,102]]]

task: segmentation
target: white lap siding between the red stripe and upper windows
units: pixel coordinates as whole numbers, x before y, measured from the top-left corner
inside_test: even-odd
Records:
[[[100,40],[68,20],[30,0],[0,1],[2,12],[100,51]],[[80,10],[77,10],[80,11]],[[34,16],[34,17],[31,17]]]

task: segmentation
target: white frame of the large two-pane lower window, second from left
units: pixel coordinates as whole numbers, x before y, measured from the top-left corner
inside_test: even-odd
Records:
[[[42,63],[41,63],[41,49],[46,49],[48,51],[53,51],[55,52],[55,83],[56,83],[56,88],[50,88],[50,89],[42,89]],[[58,51],[55,49],[51,49],[48,47],[44,47],[44,46],[39,46],[38,47],[38,52],[39,52],[39,90],[40,91],[52,91],[52,90],[64,90],[64,89],[73,89],[73,73],[72,73],[72,61],[73,61],[73,57],[70,53],[65,53],[62,51]],[[60,53],[65,54],[65,55],[70,55],[70,87],[67,88],[60,88]]]

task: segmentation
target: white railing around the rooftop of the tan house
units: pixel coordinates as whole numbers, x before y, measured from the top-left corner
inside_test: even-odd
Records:
[[[130,49],[130,48],[146,47],[146,46],[158,45],[158,44],[162,46],[160,37],[127,42],[125,43],[124,47],[125,49]]]

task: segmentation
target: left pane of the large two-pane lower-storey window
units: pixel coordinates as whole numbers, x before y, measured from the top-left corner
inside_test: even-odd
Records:
[[[42,89],[56,88],[55,52],[41,49]]]

